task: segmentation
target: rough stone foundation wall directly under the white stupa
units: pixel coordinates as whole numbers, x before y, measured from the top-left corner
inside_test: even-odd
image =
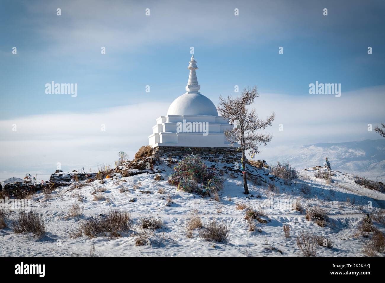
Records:
[[[157,146],[153,148],[154,157],[182,157],[185,154],[197,154],[203,160],[209,162],[241,162],[242,152],[235,147],[180,147]]]

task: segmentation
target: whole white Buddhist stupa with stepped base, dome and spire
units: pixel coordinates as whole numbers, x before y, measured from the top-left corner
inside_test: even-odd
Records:
[[[166,116],[156,119],[149,136],[150,146],[230,147],[224,130],[233,129],[234,125],[218,116],[214,103],[199,92],[196,63],[192,55],[187,68],[187,92],[171,103]]]

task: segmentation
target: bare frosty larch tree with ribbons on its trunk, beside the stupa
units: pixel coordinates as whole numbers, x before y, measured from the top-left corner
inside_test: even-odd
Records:
[[[275,119],[274,112],[271,113],[266,120],[261,120],[256,114],[255,109],[249,111],[246,107],[254,102],[254,99],[259,97],[256,86],[253,89],[244,88],[240,97],[232,97],[229,95],[227,99],[219,97],[218,110],[225,119],[229,119],[231,124],[234,124],[234,129],[225,131],[227,140],[233,146],[235,143],[240,143],[242,151],[242,172],[243,172],[243,187],[244,194],[249,194],[246,178],[245,151],[249,153],[259,153],[258,147],[261,144],[266,146],[272,135],[266,133],[257,133],[256,131],[266,129],[271,126]]]

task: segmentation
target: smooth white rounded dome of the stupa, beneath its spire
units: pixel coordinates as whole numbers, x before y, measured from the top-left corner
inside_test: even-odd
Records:
[[[209,115],[218,116],[214,103],[198,93],[186,93],[171,103],[167,115]]]

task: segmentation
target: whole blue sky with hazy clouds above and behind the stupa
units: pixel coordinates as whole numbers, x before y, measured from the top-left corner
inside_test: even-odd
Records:
[[[132,107],[125,121],[130,138],[127,141],[127,136],[118,133],[117,125],[117,132],[109,132],[110,138],[106,139],[117,139],[118,145],[115,149],[104,143],[111,149],[101,158],[113,159],[109,156],[118,150],[135,152],[147,143],[155,119],[165,115],[167,105],[185,92],[190,47],[194,47],[198,61],[201,93],[214,104],[219,95],[234,94],[234,85],[240,89],[257,85],[261,97],[255,107],[261,114],[281,111],[290,117],[301,115],[302,121],[307,121],[306,111],[312,116],[324,107],[319,115],[333,118],[313,121],[310,128],[313,132],[306,130],[306,135],[298,134],[298,129],[297,132],[284,131],[287,136],[277,136],[276,143],[272,144],[276,153],[284,141],[300,146],[312,142],[376,139],[377,136],[366,131],[366,125],[373,123],[374,127],[384,122],[383,112],[373,109],[378,106],[374,105],[376,101],[382,105],[384,102],[383,1],[2,0],[0,3],[3,106],[0,142],[5,151],[15,153],[15,156],[2,157],[5,159],[2,163],[12,164],[13,171],[19,166],[17,162],[23,160],[17,156],[27,154],[33,162],[36,156],[44,155],[32,141],[44,136],[45,141],[57,143],[59,139],[65,144],[72,134],[81,136],[84,127],[92,129],[83,122],[91,120],[81,115],[99,114],[97,117],[104,120],[103,113],[116,111],[114,107]],[[61,16],[56,15],[57,8],[61,8]],[[150,8],[150,16],[145,15],[146,8]],[[234,15],[234,8],[239,9],[239,16]],[[327,16],[323,16],[323,8],[328,9]],[[12,54],[14,46],[17,54]],[[284,53],[278,54],[281,46]],[[369,46],[373,48],[371,55],[367,54]],[[106,47],[105,55],[100,54],[101,47]],[[52,80],[77,83],[77,97],[45,94],[45,84]],[[340,83],[342,96],[319,97],[319,100],[310,97],[308,85],[316,80]],[[150,85],[150,93],[145,92],[146,85]],[[146,103],[151,105],[146,107]],[[351,105],[360,105],[353,116]],[[337,116],[328,111],[335,107],[340,109],[335,110],[340,111]],[[142,109],[138,115],[146,117],[137,117],[133,113],[137,109]],[[41,119],[37,119],[36,124],[23,124],[22,121],[35,121],[31,117],[36,115]],[[79,120],[67,125],[66,121],[72,121],[76,115]],[[67,125],[71,127],[70,132],[62,128],[58,134],[51,132],[52,127],[39,127],[39,121],[53,121],[57,117],[60,117],[57,126]],[[136,128],[130,128],[130,119],[141,123],[143,132],[132,132]],[[281,121],[276,121],[277,125],[282,121],[290,125],[287,117],[278,115],[278,119]],[[301,119],[294,120],[298,126]],[[18,131],[28,127],[30,132],[12,135],[10,125],[15,121]],[[353,126],[352,122],[356,124]],[[321,124],[326,132],[327,129],[333,131],[326,138],[322,131],[315,129],[315,124]],[[349,125],[346,127],[350,131],[341,131],[340,127],[345,127],[342,125]],[[90,144],[100,134],[84,132]],[[133,135],[140,137],[132,141]],[[28,152],[36,155],[21,154],[15,141],[30,144]],[[99,147],[94,150],[100,151]],[[75,153],[90,166],[106,162],[82,156],[83,151],[77,146],[70,152],[74,156],[71,162],[64,162],[68,166],[80,166]],[[272,156],[273,152],[269,154]],[[42,159],[35,163],[38,166],[45,162]],[[41,166],[51,168],[47,164]],[[7,170],[4,165],[0,167],[0,171]]]

